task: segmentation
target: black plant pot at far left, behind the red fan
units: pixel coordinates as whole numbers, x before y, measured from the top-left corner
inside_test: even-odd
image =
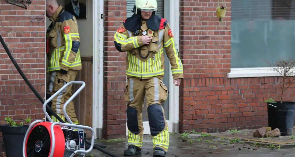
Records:
[[[28,128],[27,125],[20,127],[9,126],[9,124],[0,125],[6,157],[23,156],[22,144]]]

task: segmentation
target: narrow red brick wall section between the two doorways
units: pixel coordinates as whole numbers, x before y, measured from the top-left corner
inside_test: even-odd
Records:
[[[126,0],[104,1],[104,116],[103,137],[126,136],[126,108],[124,85],[126,80],[126,52],[114,46],[114,34],[126,19]]]

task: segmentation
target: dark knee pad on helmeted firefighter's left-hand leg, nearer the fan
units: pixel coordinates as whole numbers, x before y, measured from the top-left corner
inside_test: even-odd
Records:
[[[127,127],[128,130],[135,135],[139,134],[137,109],[130,106],[127,107]]]

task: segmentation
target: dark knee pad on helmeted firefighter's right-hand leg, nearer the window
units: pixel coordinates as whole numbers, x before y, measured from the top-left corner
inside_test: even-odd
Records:
[[[150,134],[156,136],[165,128],[165,119],[162,107],[158,104],[148,106],[148,120],[150,124]]]

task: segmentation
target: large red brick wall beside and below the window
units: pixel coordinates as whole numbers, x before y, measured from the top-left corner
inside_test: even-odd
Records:
[[[268,125],[268,96],[279,100],[276,77],[227,78],[230,72],[230,1],[224,23],[216,17],[218,0],[180,0],[180,54],[184,80],[180,87],[179,129],[215,132]],[[293,89],[284,100],[295,100]]]

